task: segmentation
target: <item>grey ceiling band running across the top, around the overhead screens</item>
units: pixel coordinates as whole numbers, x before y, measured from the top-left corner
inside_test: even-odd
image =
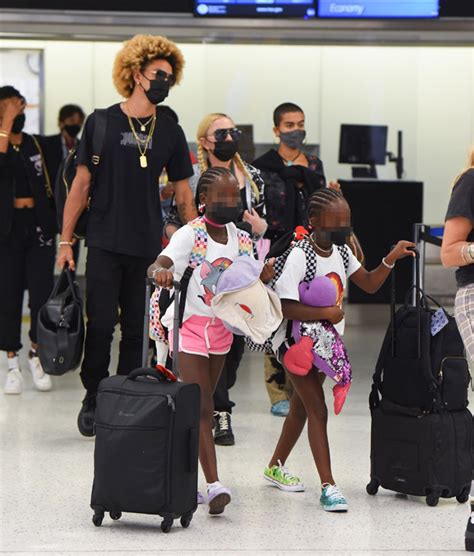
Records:
[[[473,0],[440,0],[440,18],[408,20],[195,17],[194,6],[139,0],[130,12],[128,0],[0,0],[0,38],[110,41],[149,32],[182,42],[474,44]]]

